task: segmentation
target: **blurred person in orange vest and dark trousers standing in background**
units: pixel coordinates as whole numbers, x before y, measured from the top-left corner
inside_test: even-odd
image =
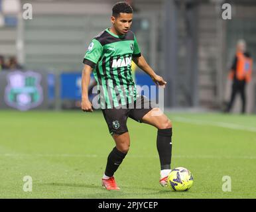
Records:
[[[238,40],[237,42],[237,53],[231,66],[229,73],[229,79],[233,81],[232,91],[227,109],[225,112],[229,113],[235,96],[240,93],[242,100],[241,113],[245,113],[246,108],[246,96],[245,96],[245,85],[251,81],[253,60],[248,52],[246,52],[246,43],[244,40]]]

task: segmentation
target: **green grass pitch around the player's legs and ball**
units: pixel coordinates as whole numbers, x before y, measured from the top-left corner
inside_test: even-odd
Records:
[[[101,177],[114,142],[101,112],[0,111],[0,198],[256,197],[255,115],[166,115],[172,168],[192,172],[189,191],[160,187],[157,129],[150,125],[127,122],[131,147],[115,173],[121,190],[107,191]],[[23,191],[24,176],[32,177],[32,192]],[[231,177],[231,192],[222,191],[223,176]]]

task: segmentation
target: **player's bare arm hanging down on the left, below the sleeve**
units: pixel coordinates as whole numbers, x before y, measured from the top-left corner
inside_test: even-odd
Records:
[[[92,67],[88,65],[84,65],[84,69],[82,70],[82,103],[81,109],[86,112],[92,112],[92,103],[89,100],[88,95],[88,87],[90,85]]]

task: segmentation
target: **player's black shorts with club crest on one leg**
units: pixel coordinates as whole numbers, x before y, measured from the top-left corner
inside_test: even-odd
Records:
[[[144,95],[141,95],[133,103],[133,108],[127,106],[127,108],[117,109],[113,107],[111,109],[101,109],[101,111],[109,128],[109,133],[123,134],[128,132],[126,125],[128,117],[141,123],[144,115],[154,107],[154,103]]]

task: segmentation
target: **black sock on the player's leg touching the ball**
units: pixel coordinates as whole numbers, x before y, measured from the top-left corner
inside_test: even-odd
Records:
[[[159,129],[157,132],[157,150],[159,152],[161,170],[170,170],[172,128]]]

